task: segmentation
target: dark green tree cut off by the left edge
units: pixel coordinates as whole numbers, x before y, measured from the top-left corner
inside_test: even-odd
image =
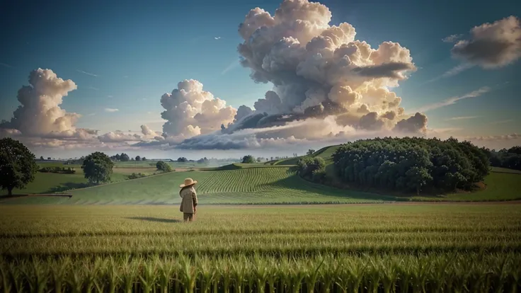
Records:
[[[0,139],[0,187],[12,195],[13,188],[24,188],[35,180],[38,165],[35,155],[21,142]]]

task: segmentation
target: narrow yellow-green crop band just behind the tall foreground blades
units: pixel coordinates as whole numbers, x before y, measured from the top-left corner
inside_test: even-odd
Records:
[[[322,252],[521,251],[521,234],[270,234],[6,238],[4,255],[95,253],[316,254]]]

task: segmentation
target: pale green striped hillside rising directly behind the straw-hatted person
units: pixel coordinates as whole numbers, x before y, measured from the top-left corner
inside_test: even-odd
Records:
[[[173,172],[137,180],[71,190],[71,199],[57,198],[67,204],[172,204],[181,202],[178,185],[186,177],[199,181],[200,204],[305,204],[383,202],[392,197],[338,190],[309,183],[287,167],[252,167],[221,171]],[[226,169],[226,167],[223,167]],[[37,197],[8,200],[10,204],[25,202],[53,203]]]

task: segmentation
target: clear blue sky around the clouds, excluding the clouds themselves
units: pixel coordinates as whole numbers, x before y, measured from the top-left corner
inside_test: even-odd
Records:
[[[454,96],[490,91],[428,111],[428,127],[461,128],[465,135],[520,132],[521,62],[500,69],[473,67],[436,79],[461,64],[451,57],[452,34],[520,16],[518,1],[324,0],[331,24],[348,22],[372,47],[390,40],[411,50],[418,67],[394,91],[408,110]],[[271,84],[256,84],[236,60],[237,28],[251,8],[272,13],[280,1],[62,1],[0,6],[0,119],[18,106],[18,88],[31,70],[52,69],[78,89],[62,108],[83,115],[77,127],[109,132],[161,130],[159,99],[178,81],[197,79],[228,105],[253,106]],[[218,38],[218,40],[216,39]],[[225,70],[227,69],[227,70]],[[434,80],[436,79],[436,80]],[[105,108],[117,108],[106,112]],[[450,120],[454,117],[475,117]]]

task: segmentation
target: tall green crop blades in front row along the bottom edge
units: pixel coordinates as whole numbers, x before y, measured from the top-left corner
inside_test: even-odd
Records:
[[[521,255],[0,260],[4,292],[515,292]]]

